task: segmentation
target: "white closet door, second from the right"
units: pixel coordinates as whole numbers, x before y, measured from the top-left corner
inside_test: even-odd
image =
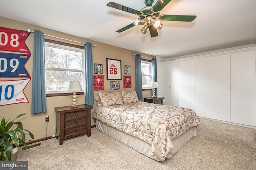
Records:
[[[230,122],[230,54],[210,58],[210,118]]]

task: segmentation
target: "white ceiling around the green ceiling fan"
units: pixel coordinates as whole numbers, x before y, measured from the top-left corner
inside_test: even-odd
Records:
[[[106,6],[109,1],[0,0],[0,16],[163,58],[256,44],[256,0],[172,0],[160,14],[197,18],[162,21],[154,38],[140,32],[143,25],[116,33],[137,16]],[[112,1],[145,7],[144,0]]]

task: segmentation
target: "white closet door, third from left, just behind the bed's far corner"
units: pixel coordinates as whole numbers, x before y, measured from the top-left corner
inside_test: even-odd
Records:
[[[179,106],[193,109],[193,60],[179,62]]]

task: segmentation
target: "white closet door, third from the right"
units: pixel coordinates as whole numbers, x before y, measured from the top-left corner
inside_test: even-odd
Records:
[[[193,109],[198,116],[210,118],[210,58],[193,60]]]

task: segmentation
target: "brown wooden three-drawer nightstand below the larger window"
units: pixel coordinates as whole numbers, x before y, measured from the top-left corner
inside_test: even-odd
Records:
[[[87,134],[91,136],[91,109],[93,107],[81,104],[78,107],[55,107],[57,113],[57,134],[60,145],[63,140]]]

